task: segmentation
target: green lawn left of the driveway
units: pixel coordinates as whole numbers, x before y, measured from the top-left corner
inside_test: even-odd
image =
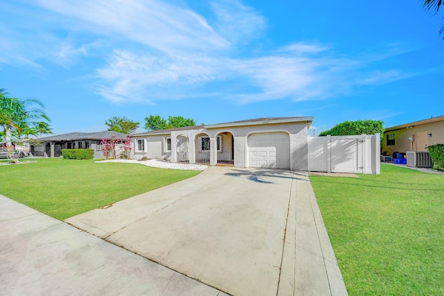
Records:
[[[141,164],[37,159],[30,164],[0,166],[0,194],[64,220],[198,173]]]

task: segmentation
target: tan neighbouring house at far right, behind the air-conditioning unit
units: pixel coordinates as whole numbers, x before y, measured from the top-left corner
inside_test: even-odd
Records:
[[[444,116],[386,128],[382,153],[392,156],[394,152],[427,151],[436,143],[444,143]]]

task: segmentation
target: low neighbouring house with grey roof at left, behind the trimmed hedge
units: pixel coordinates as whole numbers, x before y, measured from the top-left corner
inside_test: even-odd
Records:
[[[69,134],[59,134],[56,136],[43,137],[37,139],[42,141],[38,146],[31,146],[31,154],[43,157],[60,157],[62,149],[92,149],[94,158],[102,158],[102,140],[115,137],[119,141],[126,140],[126,134],[121,132],[70,132]]]

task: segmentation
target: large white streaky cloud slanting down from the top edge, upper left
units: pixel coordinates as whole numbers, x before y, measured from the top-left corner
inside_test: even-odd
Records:
[[[214,51],[228,43],[196,13],[162,1],[37,0],[65,15],[69,26],[114,39],[132,40],[163,52]]]

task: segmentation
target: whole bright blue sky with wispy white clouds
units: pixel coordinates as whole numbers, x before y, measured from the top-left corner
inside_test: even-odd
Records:
[[[56,134],[150,114],[388,127],[444,114],[442,21],[419,0],[0,0],[0,88]]]

